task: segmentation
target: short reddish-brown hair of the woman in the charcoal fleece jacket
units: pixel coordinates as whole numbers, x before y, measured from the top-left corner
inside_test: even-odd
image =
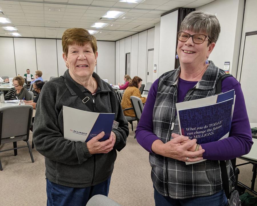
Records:
[[[63,32],[62,45],[63,53],[67,56],[69,45],[77,44],[79,46],[84,46],[90,43],[94,54],[97,52],[97,40],[91,35],[86,29],[83,28],[72,28],[66,29]]]

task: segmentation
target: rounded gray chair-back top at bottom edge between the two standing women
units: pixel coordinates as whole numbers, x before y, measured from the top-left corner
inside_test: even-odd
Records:
[[[105,195],[94,195],[89,199],[86,206],[121,206]]]

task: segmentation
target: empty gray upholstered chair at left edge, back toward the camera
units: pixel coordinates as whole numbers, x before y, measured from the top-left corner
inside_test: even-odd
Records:
[[[14,150],[14,156],[16,156],[17,149],[28,147],[31,161],[34,162],[29,145],[29,128],[32,114],[33,106],[31,105],[6,106],[0,108],[0,145],[13,142],[13,148],[0,150],[0,152]],[[18,141],[26,141],[27,146],[17,147]],[[0,170],[3,170],[1,159]]]

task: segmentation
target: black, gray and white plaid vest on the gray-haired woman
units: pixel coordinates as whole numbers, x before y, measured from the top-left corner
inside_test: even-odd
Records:
[[[176,114],[177,86],[180,67],[160,76],[153,110],[154,133],[164,142],[171,133],[180,134]],[[184,101],[215,94],[216,81],[225,72],[212,61],[202,79],[190,89]],[[172,122],[174,128],[171,130]],[[182,161],[150,153],[151,177],[156,190],[174,199],[213,195],[223,189],[219,161],[206,160],[186,165]],[[230,185],[235,182],[232,164],[226,162]]]

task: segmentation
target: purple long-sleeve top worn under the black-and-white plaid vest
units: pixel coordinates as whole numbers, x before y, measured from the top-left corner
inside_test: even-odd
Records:
[[[178,79],[178,102],[182,102],[189,89],[197,82]],[[142,116],[136,128],[136,140],[148,152],[152,152],[152,143],[159,138],[153,132],[153,108],[158,89],[158,79],[148,93]],[[252,133],[240,83],[234,77],[222,81],[222,92],[235,90],[236,100],[228,138],[201,144],[205,150],[204,159],[229,160],[249,153],[252,147]],[[222,111],[221,111],[222,112]],[[153,152],[152,152],[153,153]]]

